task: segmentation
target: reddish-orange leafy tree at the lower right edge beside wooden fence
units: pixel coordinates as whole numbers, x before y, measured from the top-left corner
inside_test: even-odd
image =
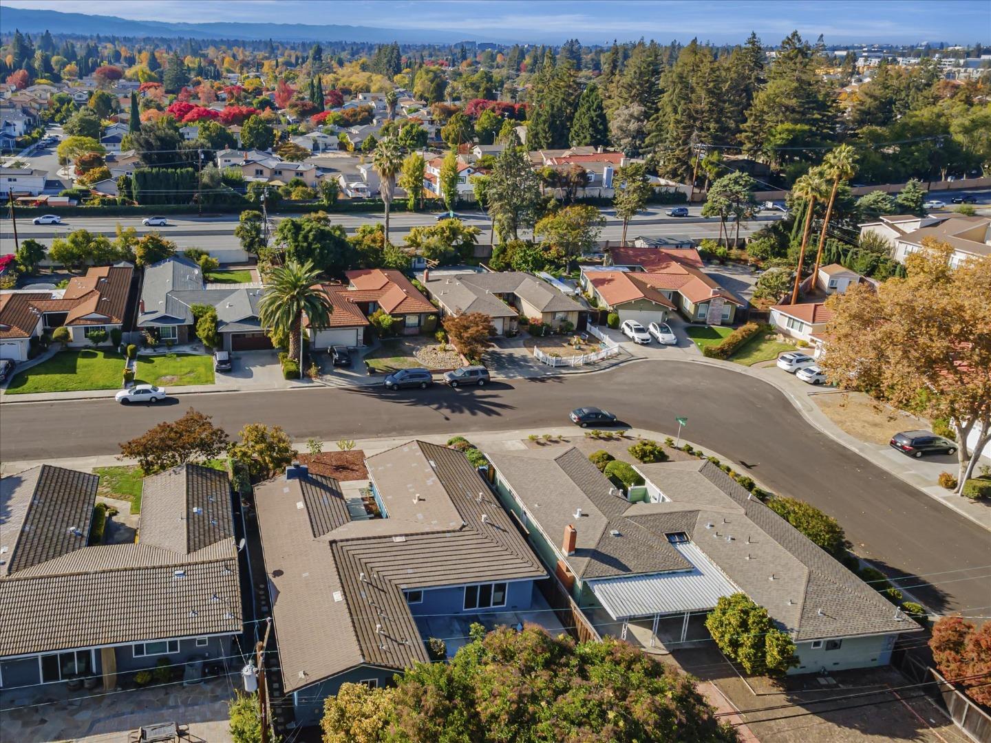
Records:
[[[939,673],[952,681],[966,677],[979,677],[958,682],[967,695],[980,704],[991,704],[991,622],[976,629],[970,622],[958,616],[944,616],[933,626],[930,649]]]

